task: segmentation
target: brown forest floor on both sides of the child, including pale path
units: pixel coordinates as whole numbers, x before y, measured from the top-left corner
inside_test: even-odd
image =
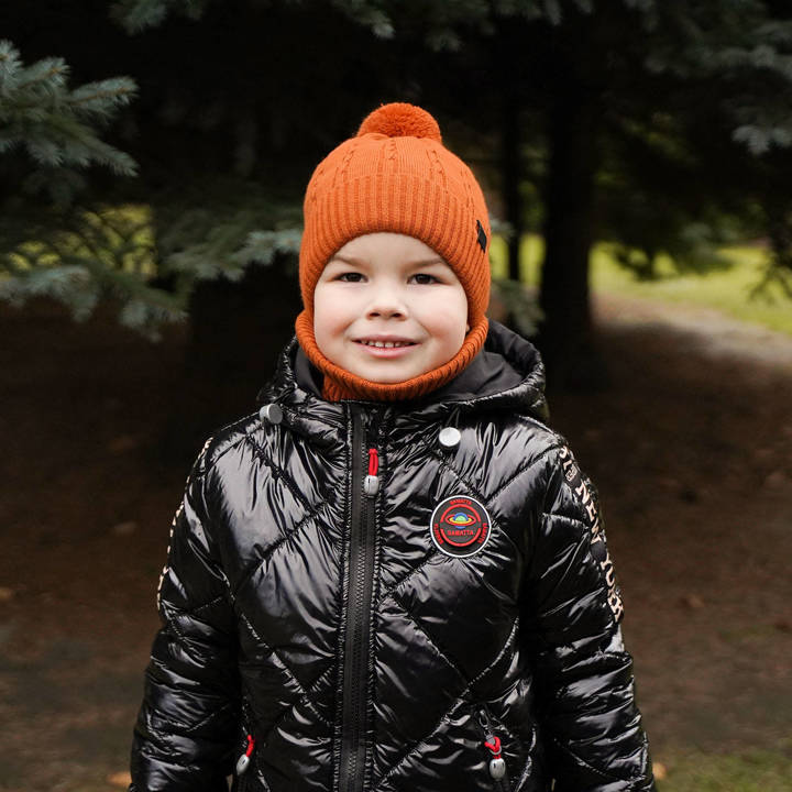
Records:
[[[601,492],[660,790],[792,789],[792,338],[678,305],[596,309],[609,385],[551,394],[552,422]],[[121,790],[199,448],[160,442],[202,394],[184,330],[152,345],[41,304],[0,307],[0,790]],[[712,762],[772,782],[696,785]]]

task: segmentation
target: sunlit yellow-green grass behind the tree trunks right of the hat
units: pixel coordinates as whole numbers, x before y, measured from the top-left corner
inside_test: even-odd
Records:
[[[762,248],[726,248],[721,253],[733,265],[705,275],[676,275],[672,262],[664,260],[658,266],[660,278],[653,282],[637,280],[616,263],[610,250],[603,243],[592,252],[591,282],[594,292],[716,308],[736,319],[792,336],[792,300],[780,288],[770,289],[765,297],[750,297],[767,261],[768,252]],[[522,280],[537,285],[543,255],[541,238],[524,237],[521,253]],[[493,239],[491,261],[493,275],[505,275],[506,244],[503,239]]]

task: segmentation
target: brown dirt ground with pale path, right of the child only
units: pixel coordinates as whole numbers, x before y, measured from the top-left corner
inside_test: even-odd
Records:
[[[557,410],[608,509],[656,752],[789,749],[792,338],[706,309],[597,309],[613,388],[585,417]]]

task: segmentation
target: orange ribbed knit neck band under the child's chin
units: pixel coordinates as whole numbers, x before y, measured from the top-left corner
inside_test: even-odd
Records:
[[[461,374],[484,345],[488,329],[482,318],[465,336],[460,351],[443,365],[400,383],[377,383],[352,374],[329,361],[319,350],[314,336],[314,319],[304,310],[295,321],[297,341],[306,358],[324,375],[322,396],[328,402],[363,399],[367,402],[403,402],[425,396]]]

